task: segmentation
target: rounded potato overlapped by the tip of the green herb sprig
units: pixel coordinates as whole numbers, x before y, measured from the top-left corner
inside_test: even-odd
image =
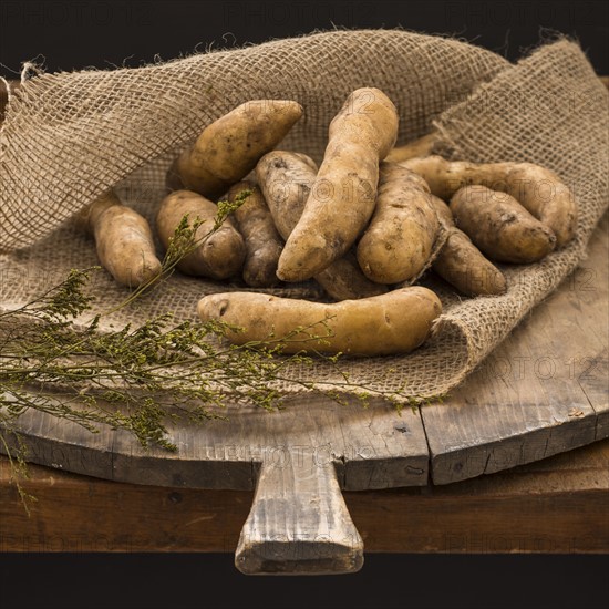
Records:
[[[210,234],[217,213],[214,203],[192,190],[176,190],[161,203],[156,228],[165,248],[169,247],[184,216],[188,216],[190,226],[195,220],[202,220],[195,234],[199,245],[177,264],[182,272],[211,279],[228,279],[240,273],[246,257],[244,239],[229,218]]]

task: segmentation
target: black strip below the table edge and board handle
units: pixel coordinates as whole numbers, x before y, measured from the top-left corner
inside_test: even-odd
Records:
[[[607,609],[607,557],[367,555],[355,575],[240,575],[229,554],[4,555],[2,609]]]

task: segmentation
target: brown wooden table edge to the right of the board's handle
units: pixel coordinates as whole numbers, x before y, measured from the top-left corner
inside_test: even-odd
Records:
[[[365,547],[382,551],[607,553],[608,466],[603,441],[509,472],[345,500]]]

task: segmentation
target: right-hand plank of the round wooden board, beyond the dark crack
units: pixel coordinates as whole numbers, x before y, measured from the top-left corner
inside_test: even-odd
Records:
[[[608,227],[606,214],[579,269],[444,403],[421,409],[435,484],[609,436]]]

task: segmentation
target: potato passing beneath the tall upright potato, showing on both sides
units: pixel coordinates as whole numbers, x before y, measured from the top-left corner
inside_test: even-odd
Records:
[[[317,166],[311,158],[283,151],[268,153],[256,166],[256,178],[283,239],[288,239],[302,215],[316,174]],[[362,273],[351,252],[314,275],[314,279],[334,300],[352,300],[388,291],[386,286],[376,285]]]

